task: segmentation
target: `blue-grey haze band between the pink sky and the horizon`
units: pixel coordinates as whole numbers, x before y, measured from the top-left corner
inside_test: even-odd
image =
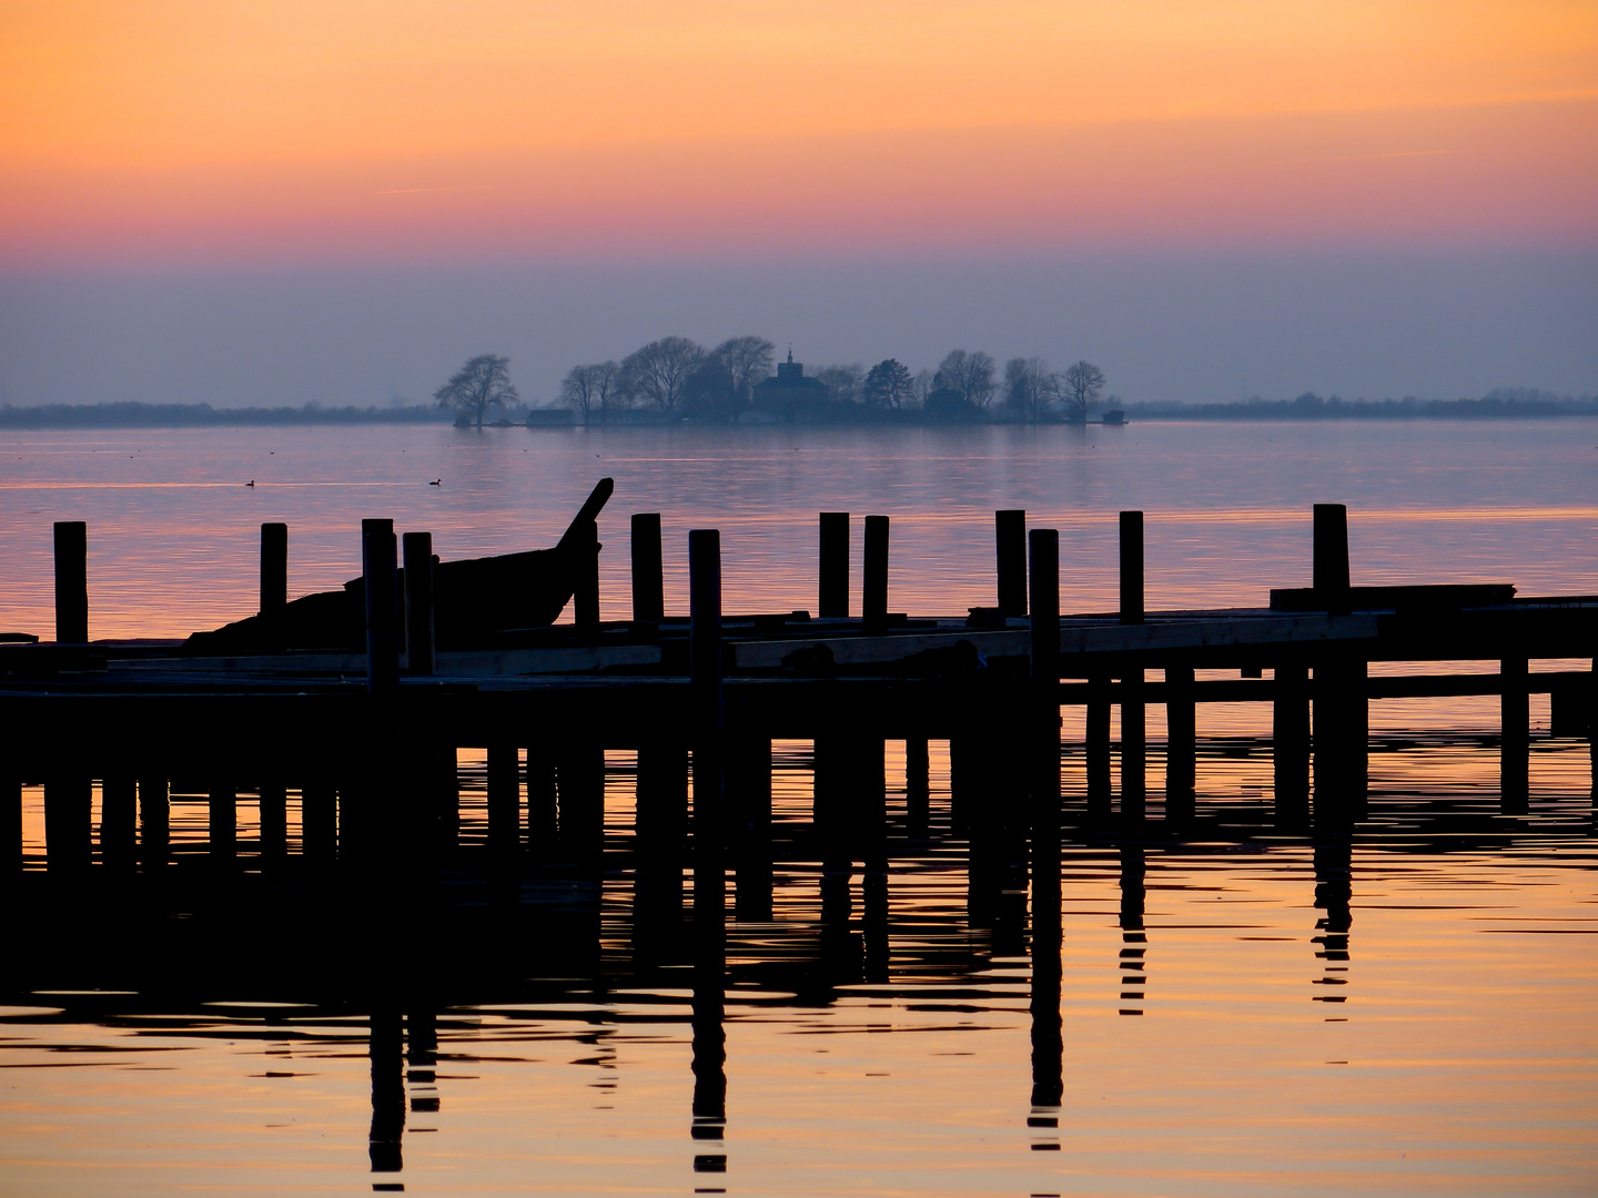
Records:
[[[470,355],[574,364],[759,334],[809,366],[1087,358],[1127,401],[1598,390],[1590,251],[1079,252],[126,267],[0,275],[0,403],[387,404]]]

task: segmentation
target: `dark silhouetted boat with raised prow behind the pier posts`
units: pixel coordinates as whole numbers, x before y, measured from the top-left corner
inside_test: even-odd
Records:
[[[491,644],[500,633],[553,625],[570,602],[580,570],[593,569],[593,554],[599,551],[593,524],[612,490],[612,479],[599,479],[553,549],[454,562],[435,557],[433,634],[438,647],[475,649]],[[400,570],[398,593],[404,602],[404,570]],[[339,591],[302,596],[278,612],[195,633],[184,642],[184,652],[195,657],[364,649],[363,578],[352,578]]]

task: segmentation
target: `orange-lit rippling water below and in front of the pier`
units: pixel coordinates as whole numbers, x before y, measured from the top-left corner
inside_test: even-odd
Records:
[[[724,925],[692,855],[663,887],[631,752],[607,754],[598,885],[529,864],[515,915],[465,896],[379,957],[364,915],[248,887],[224,912],[62,915],[77,939],[24,934],[0,995],[6,1192],[1587,1192],[1587,744],[1539,743],[1520,816],[1491,768],[1469,781],[1494,746],[1377,744],[1341,839],[1248,797],[1266,746],[1202,748],[1189,839],[1159,802],[1136,839],[1083,837],[1067,784],[1020,933],[973,898],[941,741],[924,815],[890,744],[876,869],[828,866],[815,749],[773,746],[761,918],[737,918],[733,861]],[[486,762],[462,767],[470,855]],[[201,834],[174,818],[179,874]],[[259,827],[238,837],[248,859]]]

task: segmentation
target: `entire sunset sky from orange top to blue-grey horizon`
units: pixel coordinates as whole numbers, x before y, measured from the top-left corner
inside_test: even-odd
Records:
[[[668,332],[1582,391],[1595,278],[1592,0],[0,0],[10,403],[539,396]]]

